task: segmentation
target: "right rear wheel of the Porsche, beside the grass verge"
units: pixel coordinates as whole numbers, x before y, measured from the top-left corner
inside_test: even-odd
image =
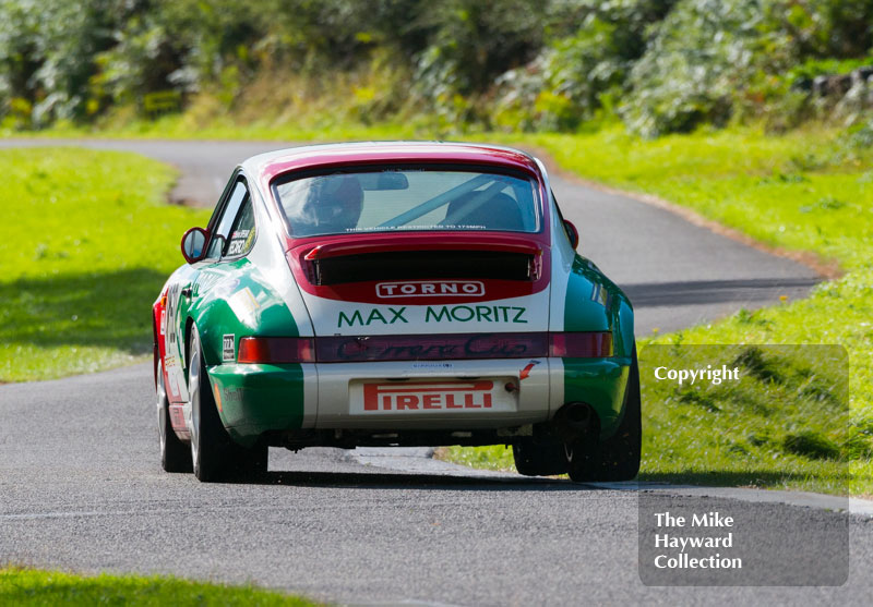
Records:
[[[567,472],[573,481],[631,481],[637,475],[643,441],[639,400],[639,365],[634,344],[624,390],[624,416],[615,434],[599,445],[594,438],[582,438],[565,447]]]

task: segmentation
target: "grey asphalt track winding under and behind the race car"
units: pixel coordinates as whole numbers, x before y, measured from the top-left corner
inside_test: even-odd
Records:
[[[191,167],[202,185],[177,192],[201,203],[238,159],[271,147],[88,145]],[[814,280],[663,210],[562,180],[554,190],[583,251],[634,299],[637,332],[796,296]],[[845,501],[575,485],[385,450],[273,449],[264,478],[203,485],[160,472],[153,389],[150,365],[0,386],[0,561],[252,581],[349,604],[868,605],[873,595],[873,519],[835,511]],[[669,585],[689,579],[651,568],[654,511],[737,521],[737,545],[721,551],[741,556],[748,576],[698,582],[777,585]]]

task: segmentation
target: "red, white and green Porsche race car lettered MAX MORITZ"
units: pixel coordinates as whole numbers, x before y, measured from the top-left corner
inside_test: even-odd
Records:
[[[255,156],[153,308],[163,466],[267,447],[511,445],[518,472],[633,478],[631,302],[575,253],[518,150],[362,143]]]

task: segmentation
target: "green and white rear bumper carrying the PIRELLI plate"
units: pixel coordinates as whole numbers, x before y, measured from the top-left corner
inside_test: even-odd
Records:
[[[288,430],[414,435],[512,428],[548,422],[567,402],[591,405],[600,420],[601,436],[608,437],[621,422],[629,365],[630,360],[623,359],[232,363],[216,365],[208,374],[225,427],[238,442],[250,445],[265,433]],[[439,387],[446,383],[467,387],[490,383],[494,405],[486,406],[485,392],[454,394],[454,400],[440,397]],[[387,391],[376,389],[383,399],[392,398],[395,386],[411,387],[412,391],[423,387],[438,396],[428,408],[419,400],[415,410],[397,411],[396,402],[384,410],[379,401],[378,409],[364,411],[361,399],[367,385],[387,387]],[[504,389],[506,394],[500,392]],[[465,398],[468,406],[464,406]]]

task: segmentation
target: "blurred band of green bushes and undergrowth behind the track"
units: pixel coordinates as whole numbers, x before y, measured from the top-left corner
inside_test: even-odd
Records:
[[[0,120],[130,118],[174,92],[204,120],[303,121],[327,97],[461,131],[781,130],[861,121],[866,80],[813,78],[871,48],[873,0],[0,0]],[[847,84],[858,102],[835,113]]]

